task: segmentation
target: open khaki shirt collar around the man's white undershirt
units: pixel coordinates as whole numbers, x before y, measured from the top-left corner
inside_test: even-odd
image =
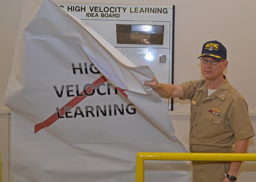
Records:
[[[225,97],[227,95],[228,88],[229,88],[229,82],[225,75],[224,75],[224,78],[225,78],[225,80],[223,81],[221,86],[215,92],[215,96],[219,97],[219,99],[221,99],[221,100],[225,100]],[[208,97],[208,87],[206,85],[205,80],[204,80],[203,84],[197,88],[197,91],[203,91],[204,96]],[[208,98],[208,99],[214,99],[214,95],[211,95],[210,98]]]

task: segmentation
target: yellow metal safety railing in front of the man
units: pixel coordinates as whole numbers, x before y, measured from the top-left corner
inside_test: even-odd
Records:
[[[144,182],[144,160],[256,161],[256,154],[139,152],[136,157],[136,182]]]

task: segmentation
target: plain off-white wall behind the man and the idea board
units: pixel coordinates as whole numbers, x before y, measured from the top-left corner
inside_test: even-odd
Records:
[[[4,94],[11,70],[23,1],[0,1],[0,110],[8,109],[4,105]],[[106,3],[105,0],[54,0],[54,2]],[[228,52],[229,65],[226,71],[228,80],[247,100],[251,120],[256,129],[256,97],[254,96],[256,63],[253,55],[256,48],[255,0],[246,2],[242,0],[108,0],[107,2],[109,4],[175,5],[175,84],[200,79],[200,63],[197,57],[203,43],[208,40],[221,41]],[[188,101],[179,101],[179,99],[174,101],[175,112],[170,112],[170,115],[172,115],[177,137],[188,149],[190,105]],[[0,122],[6,122],[6,120]],[[1,147],[3,147],[2,143]],[[254,139],[250,141],[249,152],[256,152]],[[6,159],[1,159],[2,164],[4,164],[3,160]],[[255,167],[255,162],[245,162],[239,181],[255,178]]]

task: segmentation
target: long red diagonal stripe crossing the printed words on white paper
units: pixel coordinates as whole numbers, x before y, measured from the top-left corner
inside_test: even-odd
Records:
[[[94,81],[92,83],[92,85],[94,85],[95,87],[97,87],[97,85],[99,83],[105,83],[107,81],[107,78],[105,76],[101,76],[98,79],[96,79],[96,81]],[[92,89],[91,87],[88,87],[88,92],[91,92],[89,89]],[[122,93],[122,92],[121,92]],[[80,93],[83,94],[83,91]],[[123,93],[122,93],[123,94]],[[81,101],[83,101],[83,99],[85,99],[87,97],[87,95],[84,96],[76,96],[74,97],[74,99],[72,99],[71,101],[69,101],[66,105],[64,105],[60,110],[59,110],[59,114],[62,116],[64,115],[64,107],[68,107],[71,106],[72,108],[74,106],[76,106],[78,103],[80,103]],[[48,119],[46,119],[45,121],[43,121],[42,123],[36,124],[34,126],[35,128],[35,133],[39,132],[40,130],[42,130],[43,128],[46,128],[48,126],[50,126],[51,124],[53,124],[55,121],[57,121],[59,118],[57,117],[57,112],[55,112],[53,115],[51,115]]]

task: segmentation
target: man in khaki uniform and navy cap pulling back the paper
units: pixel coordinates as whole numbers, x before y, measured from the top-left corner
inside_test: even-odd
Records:
[[[255,135],[243,96],[223,74],[227,50],[219,41],[204,43],[201,72],[204,79],[181,85],[159,83],[154,76],[145,82],[161,97],[190,99],[190,151],[245,153]],[[235,144],[234,151],[232,144]],[[193,161],[193,182],[236,181],[241,162]]]

